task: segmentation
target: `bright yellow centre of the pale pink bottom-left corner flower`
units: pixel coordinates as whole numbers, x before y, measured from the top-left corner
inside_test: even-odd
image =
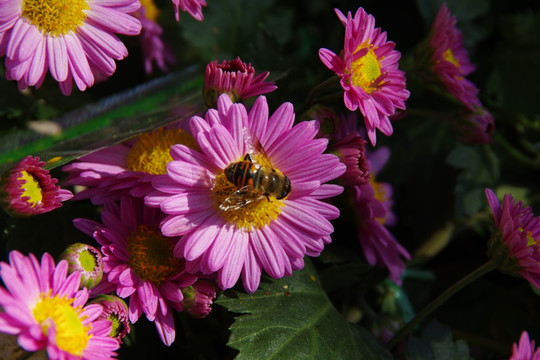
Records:
[[[51,297],[50,293],[41,295],[32,315],[41,325],[44,334],[47,334],[49,327],[54,324],[56,330],[56,345],[75,356],[81,356],[86,349],[88,340],[92,337],[89,334],[91,326],[85,326],[81,317],[81,307],[72,306],[73,299]]]

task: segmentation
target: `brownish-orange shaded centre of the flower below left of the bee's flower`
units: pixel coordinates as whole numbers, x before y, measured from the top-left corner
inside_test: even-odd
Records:
[[[180,260],[173,255],[174,242],[158,228],[139,225],[137,233],[128,237],[129,266],[142,280],[155,286],[183,270]]]

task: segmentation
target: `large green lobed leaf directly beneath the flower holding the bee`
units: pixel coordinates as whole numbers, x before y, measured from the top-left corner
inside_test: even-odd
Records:
[[[311,262],[291,277],[262,281],[253,294],[227,291],[217,303],[239,313],[228,345],[237,359],[391,359],[369,333],[334,308]]]

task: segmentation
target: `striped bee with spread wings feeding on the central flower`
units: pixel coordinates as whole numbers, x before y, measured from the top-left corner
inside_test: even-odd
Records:
[[[254,139],[255,151],[268,160],[255,134],[249,134],[246,138]],[[241,161],[229,164],[224,172],[227,180],[235,185],[237,190],[219,205],[223,211],[238,210],[265,197],[270,201],[270,196],[280,200],[291,192],[291,181],[287,176],[278,173],[272,165],[262,165],[254,161],[249,152]]]

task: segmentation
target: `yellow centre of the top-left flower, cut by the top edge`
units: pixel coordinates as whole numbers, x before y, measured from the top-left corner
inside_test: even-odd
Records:
[[[79,28],[89,10],[87,0],[23,0],[22,16],[43,34],[60,36]]]

